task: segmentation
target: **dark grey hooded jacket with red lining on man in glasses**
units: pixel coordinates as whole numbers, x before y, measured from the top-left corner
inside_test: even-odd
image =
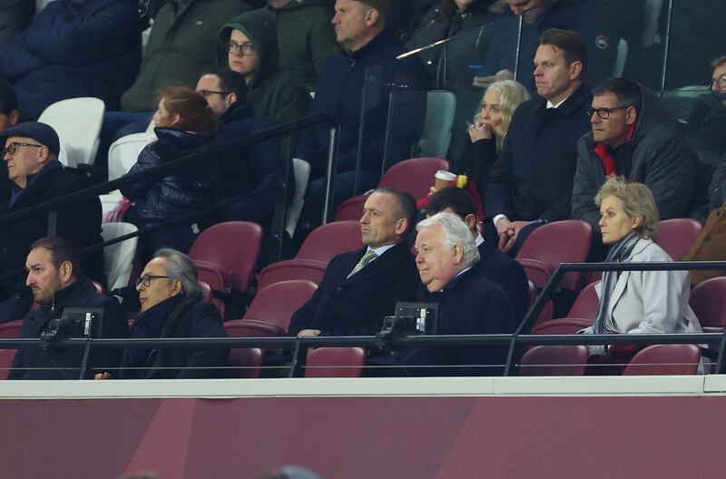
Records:
[[[695,181],[691,149],[662,103],[643,86],[641,98],[633,137],[618,148],[609,149],[616,172],[651,189],[661,220],[688,216]],[[595,144],[592,129],[577,143],[573,218],[585,220],[600,230],[600,212],[594,198],[605,181],[605,170],[594,152]]]

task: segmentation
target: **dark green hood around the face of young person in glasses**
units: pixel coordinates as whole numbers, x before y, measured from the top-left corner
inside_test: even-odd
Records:
[[[222,25],[217,42],[217,64],[221,68],[229,67],[224,44],[230,41],[232,30],[240,30],[245,34],[260,58],[260,64],[249,85],[250,90],[253,90],[255,86],[277,70],[278,34],[275,27],[275,16],[267,9],[260,8],[236,16]]]

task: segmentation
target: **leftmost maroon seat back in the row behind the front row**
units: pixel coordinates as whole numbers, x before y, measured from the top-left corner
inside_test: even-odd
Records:
[[[218,264],[230,273],[231,288],[249,292],[262,245],[262,227],[248,221],[228,221],[203,230],[189,257]]]

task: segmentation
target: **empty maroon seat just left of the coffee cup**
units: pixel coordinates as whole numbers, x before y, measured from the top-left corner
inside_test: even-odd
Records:
[[[448,160],[430,156],[399,161],[388,168],[378,186],[406,191],[418,200],[426,196],[429,188],[434,185],[434,175],[437,171],[448,171],[448,168]],[[358,195],[340,203],[335,220],[360,220],[366,198],[365,195]]]

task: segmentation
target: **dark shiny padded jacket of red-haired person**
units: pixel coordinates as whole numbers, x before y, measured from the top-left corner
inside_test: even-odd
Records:
[[[159,140],[142,150],[127,174],[177,160],[211,141],[210,138],[175,128],[155,128],[154,132]],[[187,165],[184,171],[161,180],[136,181],[121,188],[123,196],[136,201],[132,207],[132,218],[141,223],[137,226],[171,220],[214,203],[214,184],[218,179],[216,169],[194,166]]]

